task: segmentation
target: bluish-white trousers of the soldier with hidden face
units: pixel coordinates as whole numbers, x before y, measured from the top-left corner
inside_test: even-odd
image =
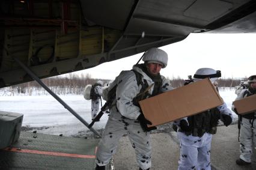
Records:
[[[210,170],[210,151],[212,134],[204,133],[200,138],[197,136],[186,136],[178,132],[180,139],[180,159],[178,170],[204,169]]]

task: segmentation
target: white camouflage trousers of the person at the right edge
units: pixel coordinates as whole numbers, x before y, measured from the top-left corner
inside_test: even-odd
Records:
[[[240,159],[251,162],[252,150],[256,141],[256,120],[252,126],[252,120],[242,118],[240,129]]]

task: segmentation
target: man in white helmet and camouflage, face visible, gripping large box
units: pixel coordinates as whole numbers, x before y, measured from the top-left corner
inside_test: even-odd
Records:
[[[100,140],[96,153],[96,169],[105,169],[115,154],[119,139],[127,134],[135,149],[139,169],[151,167],[150,131],[156,127],[146,120],[139,101],[172,90],[169,80],[160,75],[165,68],[168,55],[158,48],[151,48],[144,53],[144,64],[133,65],[132,70],[121,71],[109,88],[117,85],[116,97],[110,109],[110,117]]]

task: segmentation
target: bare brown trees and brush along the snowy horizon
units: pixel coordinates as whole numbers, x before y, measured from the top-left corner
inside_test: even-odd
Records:
[[[167,77],[167,79],[169,79]],[[55,77],[48,77],[46,79],[41,79],[42,82],[53,91],[53,93],[58,95],[66,95],[66,94],[83,94],[84,88],[91,84],[97,82],[99,79],[94,79],[91,77],[90,74],[74,74],[69,73],[67,76],[55,76]],[[108,83],[110,80],[108,79],[101,79],[104,83]],[[184,85],[185,80],[181,79],[180,77],[172,77],[169,79],[171,82],[172,87],[177,88]],[[239,85],[241,81],[245,81],[246,78],[241,79],[218,79],[218,87],[236,87]],[[48,94],[37,82],[27,82],[21,83],[19,85],[14,85],[11,87],[7,87],[8,91],[11,91],[12,94],[22,93],[28,94],[31,96],[35,91],[37,93],[41,91],[41,94]],[[42,92],[43,91],[43,92]],[[40,94],[38,94],[40,95]]]

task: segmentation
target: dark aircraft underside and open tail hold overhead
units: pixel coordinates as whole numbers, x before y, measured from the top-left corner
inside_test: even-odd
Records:
[[[0,88],[95,67],[198,32],[255,32],[249,0],[0,2]]]

